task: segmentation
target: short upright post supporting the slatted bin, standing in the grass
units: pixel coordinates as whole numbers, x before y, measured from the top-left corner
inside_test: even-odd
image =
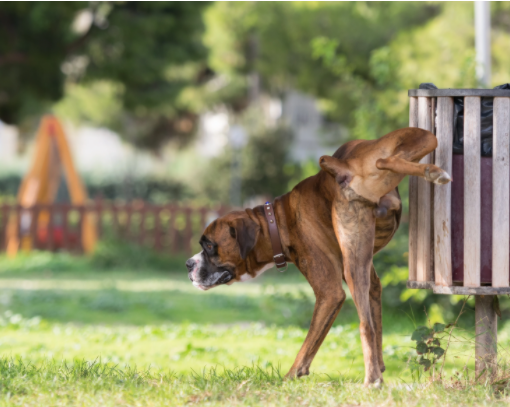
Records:
[[[475,374],[480,380],[496,373],[498,320],[493,302],[494,295],[475,296]]]

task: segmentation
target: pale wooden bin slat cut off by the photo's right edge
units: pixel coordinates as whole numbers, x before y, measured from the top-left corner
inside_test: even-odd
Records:
[[[492,286],[509,286],[510,98],[494,98],[492,141]]]

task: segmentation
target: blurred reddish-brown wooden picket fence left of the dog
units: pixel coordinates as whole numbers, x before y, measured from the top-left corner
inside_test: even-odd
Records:
[[[52,204],[31,208],[4,204],[0,205],[0,250],[6,250],[6,231],[9,219],[14,218],[20,241],[28,239],[32,248],[82,252],[84,218],[92,216],[100,239],[119,239],[161,252],[189,255],[199,250],[198,240],[207,224],[227,211],[227,207],[144,202],[119,205],[96,201],[84,206]]]

